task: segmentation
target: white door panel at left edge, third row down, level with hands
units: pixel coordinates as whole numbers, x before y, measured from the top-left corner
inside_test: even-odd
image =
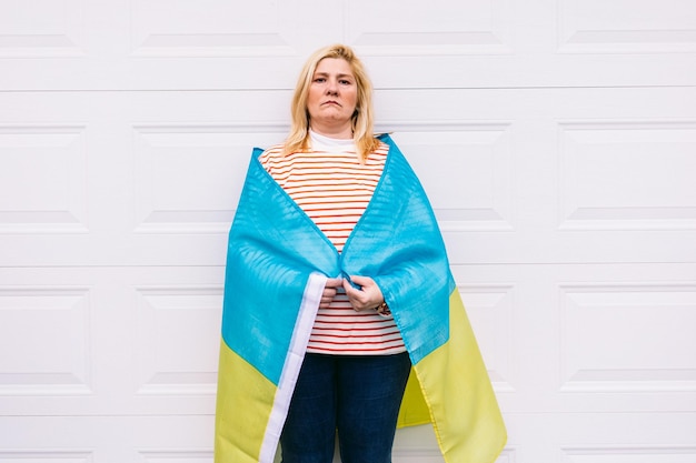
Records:
[[[0,288],[0,395],[89,394],[86,289]]]

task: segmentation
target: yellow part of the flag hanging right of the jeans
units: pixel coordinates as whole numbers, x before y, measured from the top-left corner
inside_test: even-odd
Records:
[[[456,288],[449,298],[449,340],[414,365],[414,372],[399,425],[431,422],[447,463],[493,463],[507,432]]]

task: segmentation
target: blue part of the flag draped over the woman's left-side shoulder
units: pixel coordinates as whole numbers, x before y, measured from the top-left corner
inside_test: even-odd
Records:
[[[222,339],[278,384],[308,278],[338,275],[338,252],[266,172],[260,153],[229,233]]]

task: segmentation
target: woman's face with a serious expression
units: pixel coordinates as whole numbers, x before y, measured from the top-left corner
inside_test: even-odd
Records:
[[[317,64],[307,97],[310,128],[321,134],[352,138],[358,85],[348,61],[325,58]]]

